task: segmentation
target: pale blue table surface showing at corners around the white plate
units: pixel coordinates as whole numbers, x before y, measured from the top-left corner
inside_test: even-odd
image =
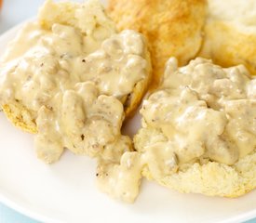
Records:
[[[79,0],[77,1],[79,2]],[[0,14],[0,34],[23,20],[35,17],[38,7],[43,3],[44,0],[4,0],[3,9]],[[37,223],[38,221],[22,216],[20,213],[0,203],[0,222]],[[247,223],[256,223],[256,218]]]

